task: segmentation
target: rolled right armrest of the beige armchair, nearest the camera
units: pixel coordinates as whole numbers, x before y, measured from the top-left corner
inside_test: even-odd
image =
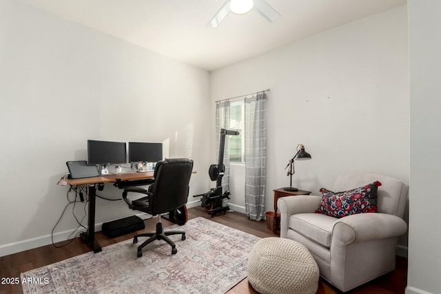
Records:
[[[387,213],[360,213],[340,218],[332,230],[332,242],[343,244],[396,238],[404,235],[407,224]]]

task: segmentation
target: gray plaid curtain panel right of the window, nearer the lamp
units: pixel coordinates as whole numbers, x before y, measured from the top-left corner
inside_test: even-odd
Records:
[[[267,94],[245,98],[245,209],[250,220],[265,218]]]

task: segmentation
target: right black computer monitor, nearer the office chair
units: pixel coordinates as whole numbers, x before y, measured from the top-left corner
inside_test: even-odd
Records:
[[[129,162],[163,160],[163,143],[129,142]]]

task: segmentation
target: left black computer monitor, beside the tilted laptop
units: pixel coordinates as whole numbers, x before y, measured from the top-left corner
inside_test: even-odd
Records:
[[[127,162],[125,142],[88,140],[88,164],[110,165]]]

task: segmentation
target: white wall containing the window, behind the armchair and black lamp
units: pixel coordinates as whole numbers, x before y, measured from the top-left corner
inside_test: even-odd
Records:
[[[272,190],[289,185],[284,168],[299,143],[312,160],[296,162],[294,187],[319,194],[345,171],[409,183],[408,59],[407,8],[400,6],[212,72],[211,113],[216,100],[271,89],[267,210],[273,209]],[[216,162],[214,142],[212,132]],[[229,202],[238,211],[244,189],[236,182],[244,182],[244,170],[231,169]]]

